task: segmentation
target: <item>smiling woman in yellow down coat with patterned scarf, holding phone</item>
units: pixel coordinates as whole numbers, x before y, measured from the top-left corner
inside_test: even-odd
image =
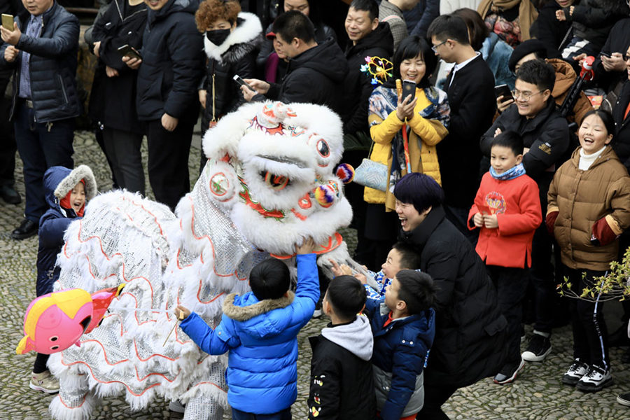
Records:
[[[374,141],[370,159],[387,165],[389,174],[387,191],[366,187],[363,195],[367,202],[365,237],[375,246],[374,259],[379,264],[385,260],[400,228],[393,212],[393,188],[407,174],[402,141],[405,119],[412,172],[423,172],[441,183],[435,145],[448,134],[450,108],[447,94],[428,80],[436,64],[430,45],[423,38],[408,36],[393,56],[393,77],[370,96],[368,121]],[[397,78],[416,83],[413,100],[398,97]]]

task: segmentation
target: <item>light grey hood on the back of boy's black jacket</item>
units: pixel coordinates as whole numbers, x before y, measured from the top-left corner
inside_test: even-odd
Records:
[[[331,342],[342,346],[360,359],[370,360],[374,337],[370,320],[365,316],[357,316],[354,322],[334,328],[323,328],[321,335]]]

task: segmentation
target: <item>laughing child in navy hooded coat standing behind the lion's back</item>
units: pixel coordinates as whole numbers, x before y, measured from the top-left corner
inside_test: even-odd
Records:
[[[64,246],[64,233],[70,223],[83,216],[85,203],[97,193],[92,169],[80,165],[75,169],[50,167],[43,176],[48,211],[39,221],[39,248],[37,250],[37,296],[52,293],[52,285],[59,278],[55,266],[57,254]],[[55,393],[57,379],[50,375],[46,363],[48,354],[37,353],[29,387],[36,391]]]

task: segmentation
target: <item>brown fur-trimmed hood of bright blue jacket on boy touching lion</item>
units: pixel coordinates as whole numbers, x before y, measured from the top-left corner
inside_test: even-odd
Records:
[[[241,329],[252,337],[274,337],[290,326],[291,319],[274,309],[288,307],[295,298],[289,291],[279,299],[258,300],[253,293],[239,296],[231,293],[223,301],[223,314],[241,323]]]

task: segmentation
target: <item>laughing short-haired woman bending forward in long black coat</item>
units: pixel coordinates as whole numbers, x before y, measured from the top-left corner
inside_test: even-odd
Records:
[[[407,174],[394,189],[399,239],[416,248],[436,286],[435,341],[416,419],[447,419],[440,408],[457,388],[493,376],[505,361],[507,321],[470,241],[444,217],[444,192],[430,176]]]

